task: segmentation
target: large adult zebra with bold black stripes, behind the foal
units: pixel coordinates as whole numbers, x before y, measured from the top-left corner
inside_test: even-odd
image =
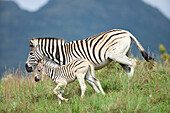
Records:
[[[83,58],[89,60],[95,69],[103,68],[111,61],[118,62],[128,76],[132,76],[136,66],[136,60],[128,57],[132,40],[146,61],[154,60],[130,32],[113,29],[70,43],[57,38],[33,38],[30,40],[30,47],[39,46],[39,48],[34,54],[30,51],[25,67],[28,72],[32,72],[44,57],[52,59],[58,65],[65,65],[74,59]]]

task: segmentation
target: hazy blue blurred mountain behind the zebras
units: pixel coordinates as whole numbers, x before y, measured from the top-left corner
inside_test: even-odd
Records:
[[[170,20],[141,0],[50,0],[34,13],[12,1],[0,1],[0,72],[19,64],[24,69],[28,39],[33,37],[70,42],[111,29],[130,31],[153,53],[158,53],[159,44],[170,48]]]

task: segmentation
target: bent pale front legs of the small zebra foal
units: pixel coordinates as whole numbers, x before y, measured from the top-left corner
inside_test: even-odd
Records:
[[[57,97],[59,98],[59,104],[61,104],[61,100],[62,101],[68,101],[69,100],[69,99],[62,97],[62,94],[64,93],[64,90],[61,90],[62,86],[65,87],[66,84],[58,83],[58,85],[53,90],[54,94],[56,94]]]

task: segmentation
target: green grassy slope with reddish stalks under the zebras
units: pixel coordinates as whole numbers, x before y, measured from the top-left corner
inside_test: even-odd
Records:
[[[32,75],[8,71],[0,82],[0,112],[170,112],[170,62],[149,69],[146,62],[138,61],[134,76],[128,79],[119,64],[96,71],[96,77],[106,92],[97,94],[87,84],[80,98],[78,81],[66,87],[68,102],[58,104],[53,94],[55,84],[50,78],[36,83]]]

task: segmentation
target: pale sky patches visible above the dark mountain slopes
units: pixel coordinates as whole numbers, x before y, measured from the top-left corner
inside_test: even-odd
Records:
[[[5,0],[15,1],[23,10],[35,12],[46,5],[49,0]],[[164,16],[170,20],[170,0],[142,0],[143,2],[157,8]]]

